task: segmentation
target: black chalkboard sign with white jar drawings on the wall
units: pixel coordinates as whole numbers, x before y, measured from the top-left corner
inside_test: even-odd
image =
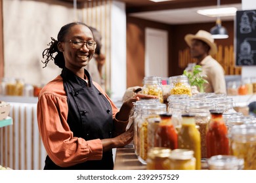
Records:
[[[236,65],[256,65],[256,10],[236,12]]]

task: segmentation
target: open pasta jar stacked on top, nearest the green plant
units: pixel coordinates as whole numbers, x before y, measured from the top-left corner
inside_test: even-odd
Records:
[[[184,94],[192,96],[191,86],[188,82],[188,77],[184,75],[173,76],[173,88],[171,88],[171,95]]]

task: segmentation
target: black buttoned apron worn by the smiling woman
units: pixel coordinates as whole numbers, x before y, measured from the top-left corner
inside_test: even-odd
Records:
[[[112,107],[93,85],[91,76],[85,70],[89,78],[87,82],[74,75],[72,71],[64,68],[61,76],[63,78],[64,90],[68,96],[68,125],[74,133],[74,137],[81,137],[85,141],[92,139],[112,138],[114,129]],[[101,160],[85,161],[71,167],[59,167],[47,156],[44,169],[113,169],[114,163],[112,150],[104,152]]]

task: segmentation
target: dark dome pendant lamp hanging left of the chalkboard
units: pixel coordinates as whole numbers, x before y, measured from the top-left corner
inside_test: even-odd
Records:
[[[217,0],[217,7],[220,7],[221,0]],[[226,31],[226,28],[221,25],[221,18],[218,17],[216,20],[215,27],[212,27],[210,30],[211,37],[213,39],[226,39],[228,38],[228,31]]]

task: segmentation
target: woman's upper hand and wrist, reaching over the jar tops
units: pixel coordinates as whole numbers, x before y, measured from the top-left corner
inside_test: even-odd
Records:
[[[142,93],[137,93],[136,95],[133,95],[133,97],[123,102],[123,105],[117,113],[116,119],[120,121],[127,121],[129,119],[131,109],[133,108],[133,103],[139,101],[140,99],[158,99],[158,97],[154,95],[145,95]]]

